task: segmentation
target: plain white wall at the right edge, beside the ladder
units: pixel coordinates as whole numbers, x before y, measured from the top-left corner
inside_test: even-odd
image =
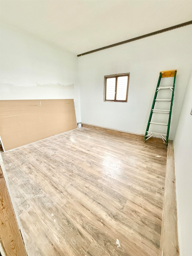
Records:
[[[192,255],[192,73],[185,92],[174,139],[179,248]]]

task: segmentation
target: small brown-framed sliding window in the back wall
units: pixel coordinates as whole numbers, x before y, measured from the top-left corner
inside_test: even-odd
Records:
[[[129,73],[105,76],[104,101],[127,102]]]

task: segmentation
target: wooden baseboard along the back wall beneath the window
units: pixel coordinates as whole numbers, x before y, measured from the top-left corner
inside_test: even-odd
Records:
[[[126,132],[126,131],[118,131],[118,130],[111,129],[111,128],[101,127],[98,125],[89,125],[89,124],[85,124],[85,123],[82,123],[82,127],[95,129],[98,131],[105,131],[105,132],[113,134],[113,135],[118,135],[118,136],[122,136],[122,137],[128,137],[128,138],[144,141],[144,135],[142,135],[142,134],[134,134],[134,133]],[[155,137],[150,138],[149,141],[147,141],[146,143],[148,143],[148,142],[163,143],[163,141],[160,138],[155,138]]]

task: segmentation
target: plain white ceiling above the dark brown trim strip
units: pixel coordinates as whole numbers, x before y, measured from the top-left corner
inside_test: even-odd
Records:
[[[80,54],[192,20],[192,1],[1,0],[1,20]]]

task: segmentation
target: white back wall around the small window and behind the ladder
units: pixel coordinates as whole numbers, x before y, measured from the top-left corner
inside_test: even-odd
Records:
[[[178,69],[170,128],[173,140],[191,69],[191,28],[78,57],[81,122],[145,134],[159,72]],[[104,76],[128,72],[128,102],[104,102]]]

